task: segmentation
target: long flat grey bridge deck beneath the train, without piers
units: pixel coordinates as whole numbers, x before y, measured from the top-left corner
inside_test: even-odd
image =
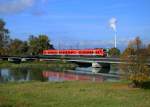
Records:
[[[92,62],[96,62],[96,63],[110,63],[110,64],[120,64],[120,63],[124,63],[124,64],[128,64],[127,61],[125,60],[121,60],[120,58],[113,58],[113,57],[101,57],[101,58],[87,58],[87,57],[50,57],[50,58],[43,58],[43,57],[35,57],[35,56],[29,56],[29,57],[17,57],[17,56],[4,56],[1,57],[0,56],[0,60],[2,59],[27,59],[27,60],[34,60],[34,59],[39,59],[39,60],[65,60],[67,62],[82,62],[82,63],[92,63]],[[147,62],[148,65],[150,65],[150,60]]]

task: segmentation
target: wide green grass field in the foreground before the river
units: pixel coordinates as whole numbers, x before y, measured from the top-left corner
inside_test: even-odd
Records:
[[[0,84],[0,107],[150,107],[150,90],[127,83]]]

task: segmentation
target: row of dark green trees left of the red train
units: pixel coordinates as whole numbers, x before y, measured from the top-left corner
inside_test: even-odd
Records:
[[[30,35],[27,41],[10,38],[6,23],[0,19],[0,56],[38,55],[44,49],[54,49],[47,35]]]

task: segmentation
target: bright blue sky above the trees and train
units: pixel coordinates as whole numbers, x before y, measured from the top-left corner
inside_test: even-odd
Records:
[[[0,0],[0,18],[12,38],[47,34],[55,47],[112,47],[140,36],[150,43],[150,0]],[[90,44],[90,45],[89,45]]]

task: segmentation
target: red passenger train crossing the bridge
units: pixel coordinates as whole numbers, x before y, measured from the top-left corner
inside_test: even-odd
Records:
[[[106,56],[105,49],[43,50],[43,55]]]

